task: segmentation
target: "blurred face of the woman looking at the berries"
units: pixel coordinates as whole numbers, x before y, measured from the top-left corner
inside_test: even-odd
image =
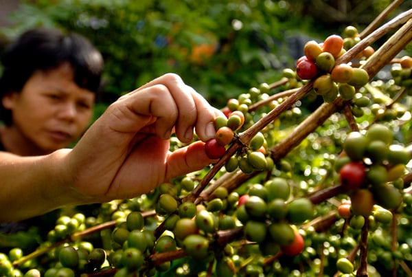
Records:
[[[3,98],[12,111],[16,143],[50,153],[74,142],[87,128],[93,114],[95,93],[73,81],[69,64],[36,71],[20,93]],[[37,148],[37,149],[36,149]]]

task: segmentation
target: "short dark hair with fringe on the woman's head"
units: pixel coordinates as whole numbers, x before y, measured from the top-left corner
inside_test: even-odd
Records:
[[[3,53],[0,99],[20,92],[37,70],[55,69],[63,63],[73,68],[74,82],[95,93],[100,87],[103,58],[98,49],[80,34],[63,34],[57,29],[37,27],[21,34]],[[12,124],[11,111],[0,104],[0,120]]]

